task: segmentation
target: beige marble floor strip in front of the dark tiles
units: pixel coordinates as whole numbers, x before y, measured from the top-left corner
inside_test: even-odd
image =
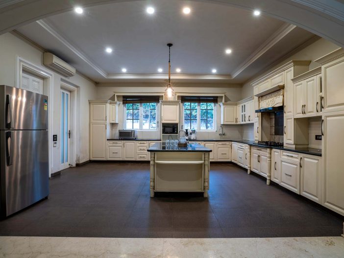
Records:
[[[344,237],[88,238],[1,236],[8,258],[344,258]]]

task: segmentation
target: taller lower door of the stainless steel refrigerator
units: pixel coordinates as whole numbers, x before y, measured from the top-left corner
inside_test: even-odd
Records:
[[[1,152],[1,213],[8,216],[49,195],[48,131],[0,133],[1,141],[6,139],[6,151]]]

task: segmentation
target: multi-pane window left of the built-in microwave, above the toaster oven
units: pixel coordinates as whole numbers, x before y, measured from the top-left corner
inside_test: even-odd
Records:
[[[158,103],[124,104],[125,129],[157,130]]]

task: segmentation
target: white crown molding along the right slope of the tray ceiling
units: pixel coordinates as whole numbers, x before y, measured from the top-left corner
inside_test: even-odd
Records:
[[[254,61],[256,61],[260,56],[272,48],[277,42],[283,39],[289,32],[291,32],[296,26],[292,24],[285,23],[281,26],[275,33],[273,33],[270,38],[268,38],[255,52],[253,52],[232,75],[232,78],[237,77],[242,73],[248,66],[250,66]]]

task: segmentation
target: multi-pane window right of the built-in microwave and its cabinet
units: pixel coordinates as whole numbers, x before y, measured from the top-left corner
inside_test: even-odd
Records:
[[[216,125],[215,103],[183,103],[183,129],[213,131]]]

